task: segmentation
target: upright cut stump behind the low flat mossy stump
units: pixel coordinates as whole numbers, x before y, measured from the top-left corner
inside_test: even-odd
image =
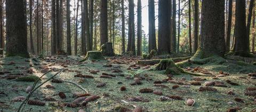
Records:
[[[113,50],[113,44],[110,42],[101,45],[101,52],[104,56],[107,56],[107,57],[115,56],[115,53]]]

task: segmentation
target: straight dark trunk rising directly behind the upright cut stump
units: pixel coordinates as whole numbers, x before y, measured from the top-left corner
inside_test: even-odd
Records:
[[[108,2],[101,0],[100,45],[108,42]]]

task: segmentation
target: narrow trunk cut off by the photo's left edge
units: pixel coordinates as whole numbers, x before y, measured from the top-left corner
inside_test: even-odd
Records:
[[[3,0],[0,0],[0,54],[4,54]],[[34,49],[33,49],[34,50]],[[35,52],[33,52],[35,53]]]

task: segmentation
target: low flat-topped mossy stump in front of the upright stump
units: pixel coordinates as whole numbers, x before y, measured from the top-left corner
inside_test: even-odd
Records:
[[[80,62],[85,60],[105,60],[105,58],[103,57],[101,51],[88,51],[86,57]]]

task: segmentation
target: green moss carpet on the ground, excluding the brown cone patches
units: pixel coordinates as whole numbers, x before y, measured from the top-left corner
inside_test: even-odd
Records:
[[[256,67],[253,65],[237,65],[232,63],[206,63],[205,65],[187,65],[189,67],[202,67],[211,71],[214,75],[218,75],[219,71],[222,70],[224,72],[230,73],[229,76],[219,77],[219,79],[212,79],[212,77],[201,77],[206,78],[206,81],[223,81],[226,79],[239,83],[239,86],[229,85],[225,82],[229,87],[215,87],[218,92],[199,92],[199,86],[191,86],[190,88],[180,87],[178,89],[172,89],[172,86],[175,84],[172,83],[163,83],[169,88],[162,88],[154,86],[154,81],[162,81],[162,79],[167,78],[166,74],[163,71],[155,71],[153,70],[155,66],[151,66],[148,69],[131,69],[127,70],[129,66],[135,64],[137,58],[109,58],[108,61],[84,61],[79,63],[78,61],[83,59],[83,57],[46,57],[44,59],[39,59],[38,62],[32,59],[24,59],[21,57],[9,57],[0,59],[1,70],[0,71],[11,71],[11,73],[20,73],[23,70],[32,68],[36,76],[41,76],[41,70],[43,68],[65,68],[69,69],[69,71],[65,71],[61,75],[57,76],[57,78],[63,79],[65,81],[71,81],[78,83],[82,87],[84,87],[89,93],[103,96],[103,93],[108,93],[110,97],[108,98],[100,98],[97,101],[90,102],[87,111],[115,111],[114,108],[117,106],[124,106],[133,108],[131,105],[127,105],[123,103],[121,100],[127,101],[127,97],[138,97],[141,96],[149,100],[149,102],[131,102],[127,101],[132,105],[141,106],[145,108],[147,111],[227,111],[229,108],[233,107],[241,107],[240,111],[252,111],[256,108],[253,103],[253,97],[248,97],[244,95],[244,91],[247,87],[255,87],[255,79],[241,79],[238,77],[247,77],[247,73],[256,72]],[[11,61],[14,62],[13,65],[8,65]],[[103,67],[107,63],[111,63],[113,67]],[[122,64],[120,64],[122,63]],[[32,67],[30,67],[33,65]],[[141,67],[143,68],[143,67]],[[120,69],[123,73],[111,73],[114,69]],[[71,71],[70,71],[71,70]],[[73,70],[73,71],[72,71]],[[92,75],[91,78],[77,78],[74,75],[77,74],[75,70],[80,71],[83,75]],[[98,74],[90,74],[89,70],[100,70]],[[124,74],[125,76],[117,76],[112,79],[99,78],[102,73],[109,73],[114,75]],[[47,78],[51,77],[54,73],[47,74],[43,77],[42,81],[45,81]],[[133,79],[126,79],[126,76],[141,76],[141,77],[150,77],[152,80],[147,81],[143,80],[142,85],[130,85],[133,83]],[[0,77],[2,77],[0,75]],[[182,74],[175,75],[173,77],[174,81],[181,81],[181,78],[186,78],[185,82],[191,81],[191,78],[194,76]],[[83,81],[81,83],[81,81]],[[80,83],[79,83],[80,82]],[[118,84],[118,82],[122,82],[123,84]],[[106,83],[105,87],[98,88],[96,87],[98,83]],[[204,82],[202,82],[203,84]],[[254,83],[254,84],[253,84]],[[0,110],[3,111],[17,111],[21,102],[11,102],[10,100],[14,97],[18,97],[20,95],[28,95],[25,92],[27,86],[33,85],[34,82],[16,82],[13,80],[0,79]],[[55,86],[55,89],[46,89],[45,85],[51,84]],[[119,88],[121,86],[126,86],[126,91],[120,91]],[[171,101],[160,101],[159,95],[153,93],[140,93],[139,90],[142,88],[150,88],[153,90],[162,90],[164,95],[179,95],[183,98],[183,100],[171,100]],[[233,90],[236,95],[228,95],[227,92]],[[14,92],[13,92],[14,91]],[[62,91],[65,92],[67,98],[62,100],[58,97],[58,93]],[[72,98],[72,94],[74,92],[81,92],[81,89],[78,89],[75,85],[71,85],[68,83],[51,83],[47,82],[42,87],[33,94],[30,99],[39,99],[43,100],[45,97],[53,97],[61,102],[71,102],[74,100]],[[193,107],[188,107],[186,105],[187,98],[195,99],[196,103]],[[238,103],[234,101],[235,98],[244,99],[245,103]],[[228,102],[234,102],[233,105],[229,105]],[[7,106],[4,106],[4,105]],[[26,105],[24,108],[25,111],[61,111],[61,109],[56,106],[55,102],[46,102],[46,106],[30,106]],[[68,111],[78,111],[81,108],[68,108],[64,109]]]

